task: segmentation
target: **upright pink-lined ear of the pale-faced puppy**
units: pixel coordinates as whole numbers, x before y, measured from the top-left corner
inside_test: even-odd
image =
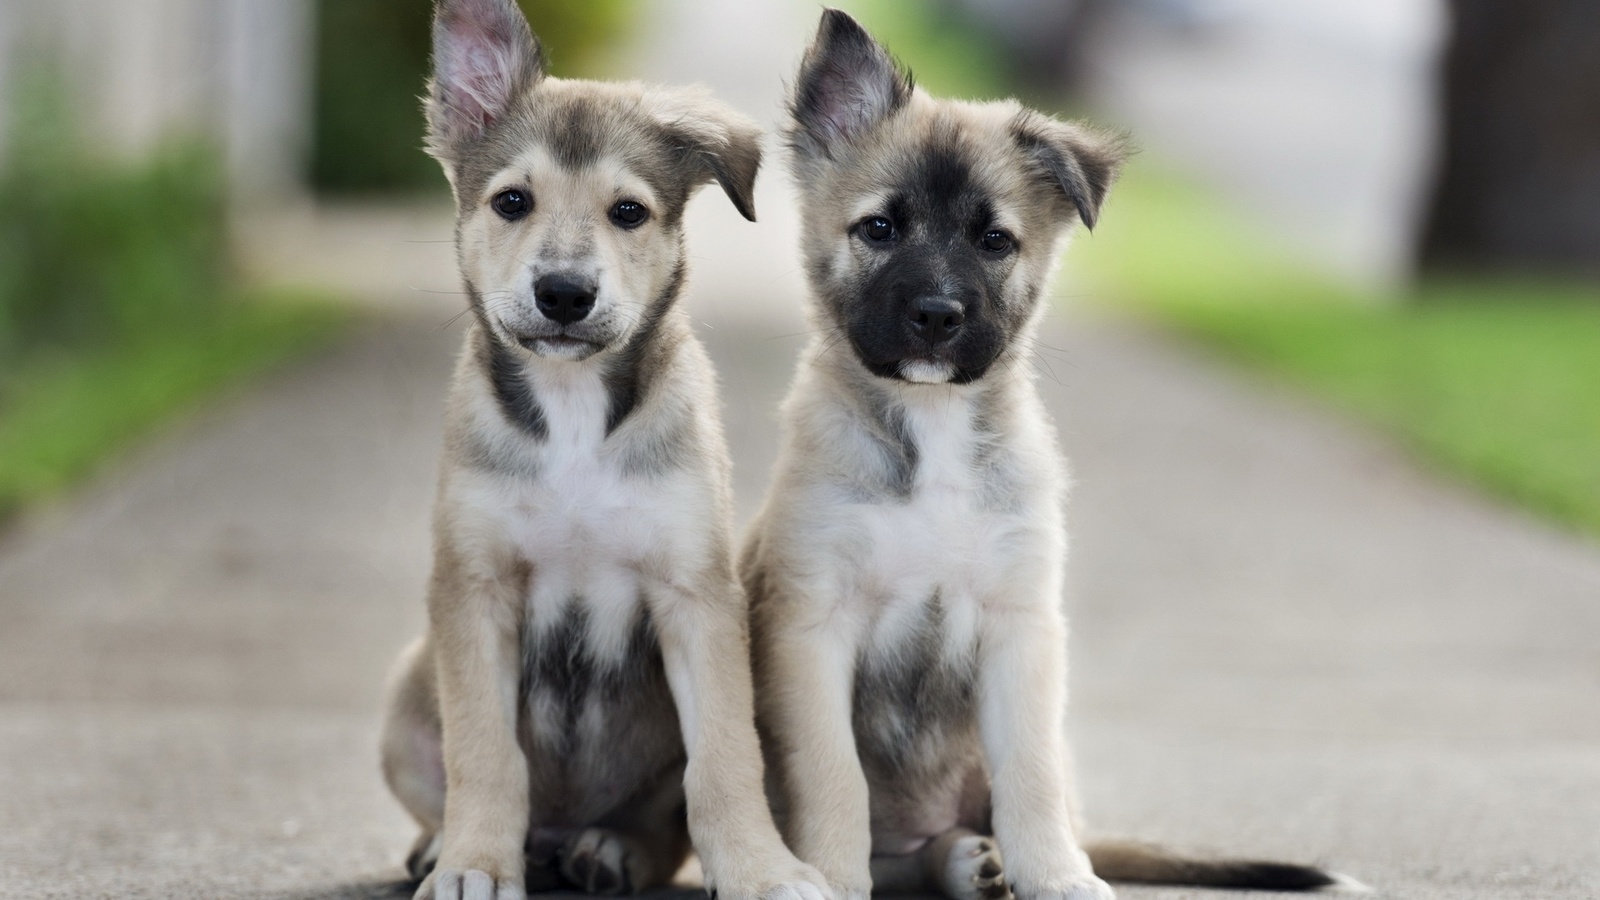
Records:
[[[498,122],[544,77],[539,43],[512,0],[438,0],[427,147],[448,157]]]

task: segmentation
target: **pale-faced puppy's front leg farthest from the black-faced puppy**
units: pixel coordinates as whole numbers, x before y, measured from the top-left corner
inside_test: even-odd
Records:
[[[438,865],[416,900],[522,900],[528,761],[517,743],[517,580],[440,569],[427,605],[438,653],[445,828]]]

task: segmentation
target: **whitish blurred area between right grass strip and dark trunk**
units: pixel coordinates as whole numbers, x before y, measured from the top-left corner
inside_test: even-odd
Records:
[[[1438,133],[1443,0],[1112,0],[1094,106],[1150,154],[1358,280],[1413,266]]]

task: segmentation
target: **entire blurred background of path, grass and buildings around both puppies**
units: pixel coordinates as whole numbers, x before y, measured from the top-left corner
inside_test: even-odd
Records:
[[[838,5],[1139,147],[1030,360],[1096,822],[1600,894],[1600,3]],[[819,11],[522,6],[558,75],[773,128]],[[0,895],[405,895],[373,733],[466,307],[429,13],[0,0]],[[741,516],[808,336],[768,146],[760,223],[688,226]]]

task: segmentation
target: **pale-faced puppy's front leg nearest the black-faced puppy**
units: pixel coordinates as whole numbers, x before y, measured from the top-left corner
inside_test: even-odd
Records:
[[[784,847],[766,806],[744,593],[730,578],[672,597],[658,633],[688,749],[683,793],[706,887],[723,900],[822,900],[827,881]]]

